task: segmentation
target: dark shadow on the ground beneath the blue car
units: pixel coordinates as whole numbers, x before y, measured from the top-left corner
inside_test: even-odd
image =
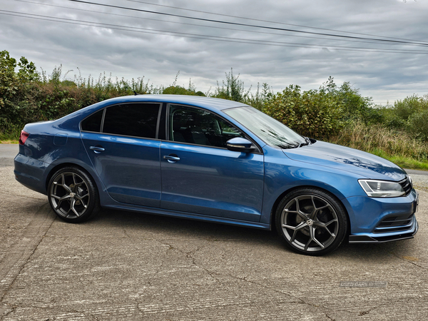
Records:
[[[141,233],[151,233],[180,240],[203,239],[219,241],[241,241],[244,243],[264,244],[275,250],[293,253],[282,244],[275,230],[259,230],[235,225],[207,223],[198,220],[173,218],[150,213],[132,213],[121,210],[101,210],[95,218],[83,224],[103,224],[112,228],[141,230]],[[389,263],[412,252],[414,240],[402,240],[392,243],[379,244],[349,244],[342,243],[333,253],[324,258],[343,258],[355,262],[384,262]],[[294,253],[293,253],[294,254]]]

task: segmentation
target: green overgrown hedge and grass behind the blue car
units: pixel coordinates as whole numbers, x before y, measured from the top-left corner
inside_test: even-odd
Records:
[[[153,86],[145,79],[128,81],[101,74],[70,79],[62,67],[48,76],[34,63],[0,51],[0,141],[17,141],[25,123],[56,119],[92,103],[134,93],[198,95],[248,103],[302,134],[388,158],[406,168],[428,169],[428,95],[374,106],[349,82],[337,86],[330,77],[320,88],[302,91],[290,85],[274,93],[267,83],[245,88],[231,69],[213,91],[196,91],[190,80],[178,86]]]

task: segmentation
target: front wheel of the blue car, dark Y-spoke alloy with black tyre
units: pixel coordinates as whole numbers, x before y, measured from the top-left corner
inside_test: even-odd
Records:
[[[347,220],[342,203],[319,188],[293,190],[275,213],[277,233],[285,245],[305,255],[337,249],[347,235]]]

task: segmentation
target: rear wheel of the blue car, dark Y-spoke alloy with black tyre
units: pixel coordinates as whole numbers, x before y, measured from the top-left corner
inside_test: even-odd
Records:
[[[49,181],[48,198],[52,209],[62,220],[80,223],[100,209],[98,190],[88,173],[76,167],[56,171]]]

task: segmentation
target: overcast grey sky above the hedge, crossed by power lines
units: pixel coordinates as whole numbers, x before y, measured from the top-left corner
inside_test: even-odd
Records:
[[[206,92],[233,68],[252,92],[332,76],[383,105],[428,93],[427,0],[83,1],[128,9],[0,0],[0,50],[47,73],[62,64],[70,79],[79,68],[169,86],[180,71],[178,85]]]

